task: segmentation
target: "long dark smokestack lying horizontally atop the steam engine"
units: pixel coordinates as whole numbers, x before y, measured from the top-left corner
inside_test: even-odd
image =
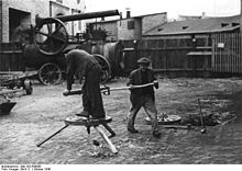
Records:
[[[87,19],[105,18],[105,16],[113,16],[113,15],[119,15],[119,10],[88,12],[88,13],[79,13],[74,15],[61,15],[61,16],[56,16],[55,19],[58,19],[63,22],[68,22],[68,21],[87,20]]]

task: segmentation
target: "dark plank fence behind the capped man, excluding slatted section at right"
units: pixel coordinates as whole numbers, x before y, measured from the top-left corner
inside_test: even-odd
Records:
[[[136,60],[146,56],[158,73],[189,76],[211,71],[211,41],[209,36],[196,38],[163,38],[124,41],[125,72],[136,68]]]

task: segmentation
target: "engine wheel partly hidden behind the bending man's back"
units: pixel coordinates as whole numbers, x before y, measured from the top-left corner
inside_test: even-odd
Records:
[[[101,82],[105,83],[111,78],[111,67],[109,61],[99,54],[92,54],[94,57],[98,60],[99,65],[101,66],[102,75],[101,75]]]

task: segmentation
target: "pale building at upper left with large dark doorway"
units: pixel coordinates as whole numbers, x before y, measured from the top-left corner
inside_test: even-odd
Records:
[[[35,25],[35,18],[70,15],[85,12],[84,0],[0,0],[0,41],[12,42],[15,33]],[[81,31],[81,22],[68,22],[68,34]],[[19,31],[19,32],[16,32]]]

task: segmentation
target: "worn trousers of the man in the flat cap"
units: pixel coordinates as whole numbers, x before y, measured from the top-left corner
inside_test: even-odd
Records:
[[[151,95],[141,95],[139,96],[139,99],[136,98],[135,103],[133,102],[131,104],[131,109],[128,114],[128,128],[131,129],[134,128],[134,121],[141,107],[144,109],[145,113],[151,119],[152,132],[157,132],[158,130],[157,110],[155,107],[154,98],[152,98]]]

